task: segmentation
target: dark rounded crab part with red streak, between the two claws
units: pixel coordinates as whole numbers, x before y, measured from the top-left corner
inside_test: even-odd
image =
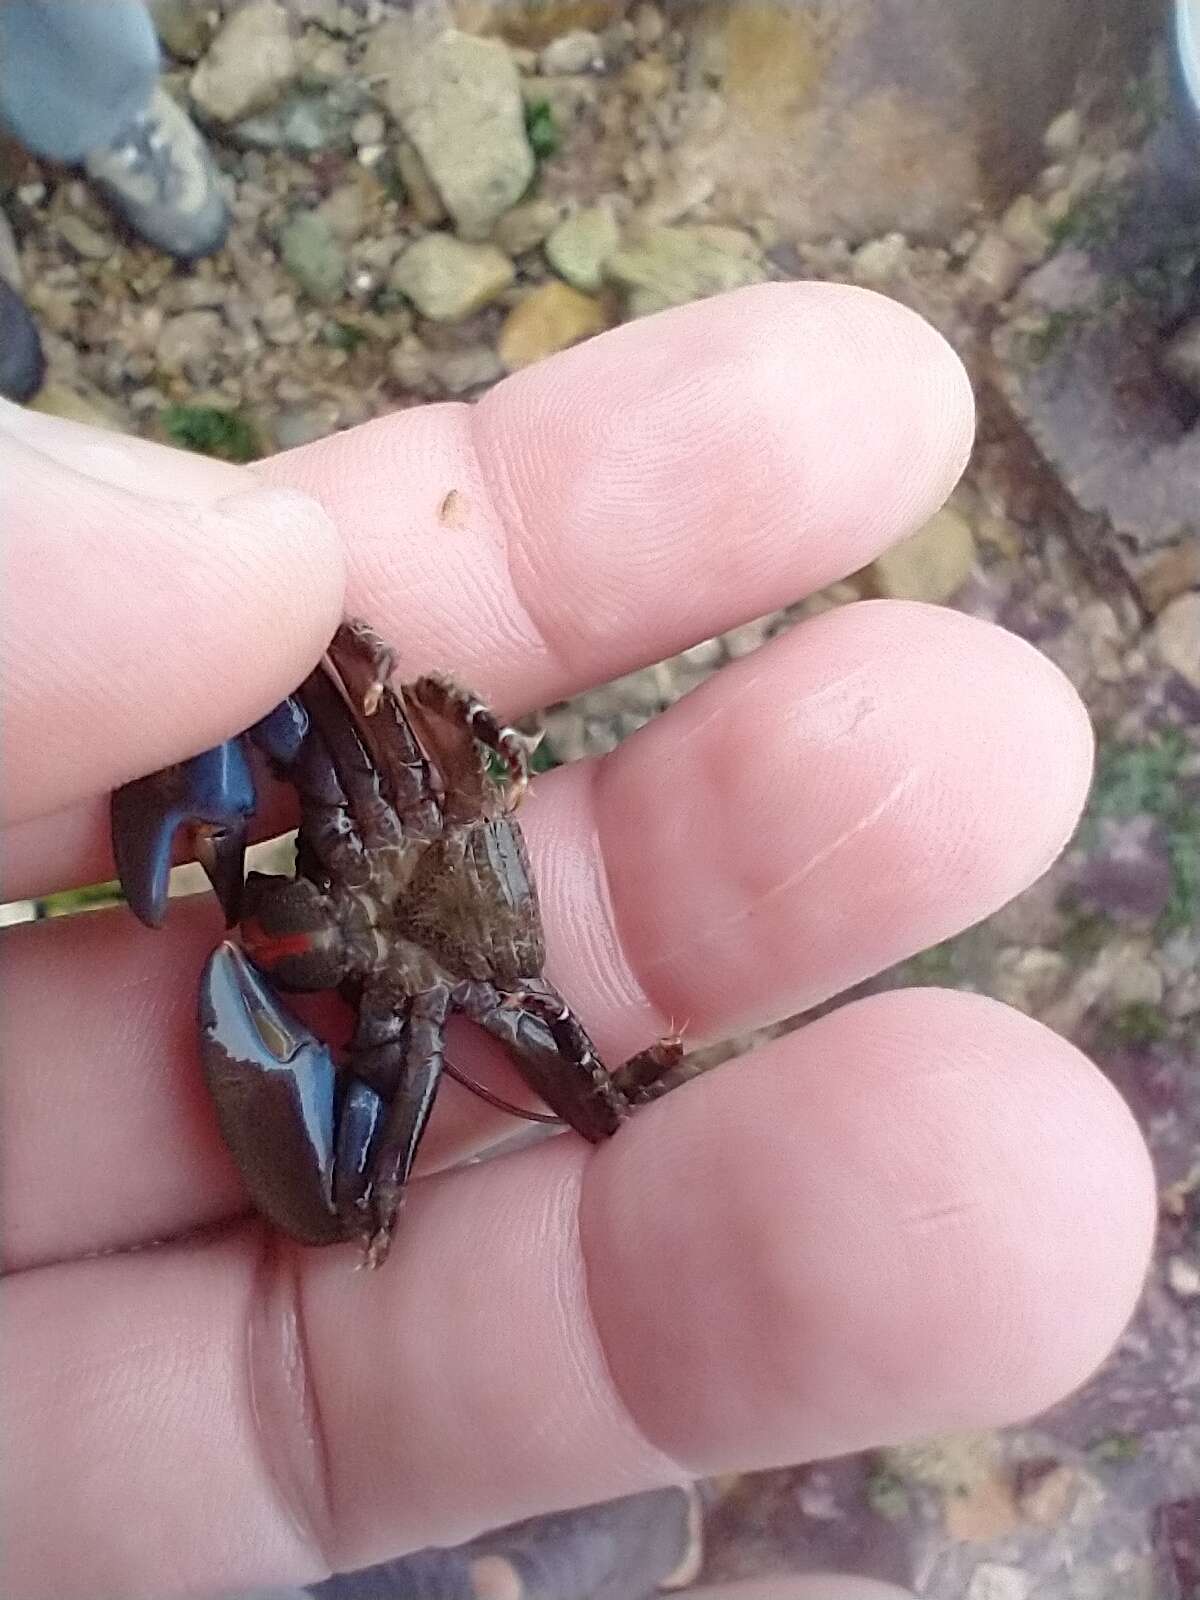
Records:
[[[307,878],[251,872],[242,942],[282,989],[336,989],[346,976],[346,939],[330,899]]]

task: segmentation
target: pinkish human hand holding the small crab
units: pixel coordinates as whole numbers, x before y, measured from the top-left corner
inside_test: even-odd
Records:
[[[930,328],[802,285],[254,474],[5,406],[5,896],[112,875],[107,792],[251,723],[344,611],[515,715],[858,570],[970,430]],[[698,1043],[794,1014],[1030,883],[1090,758],[1022,642],[827,613],[538,781],[547,974],[611,1059],[672,1019]],[[5,934],[13,1600],[307,1581],[1002,1422],[1134,1304],[1154,1190],[1125,1106],[1037,1022],[938,990],[843,1006],[598,1149],[450,1171],[507,1125],[446,1085],[387,1266],[291,1248],[200,1082],[218,928],[200,898],[163,933]]]

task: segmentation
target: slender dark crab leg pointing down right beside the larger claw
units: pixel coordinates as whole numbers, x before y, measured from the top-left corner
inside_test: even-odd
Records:
[[[371,1237],[366,1266],[378,1267],[387,1258],[392,1230],[403,1202],[405,1184],[434,1109],[446,1048],[450,989],[426,989],[413,998],[403,1043],[403,1067],[384,1123],[379,1144],[371,1157]],[[355,1070],[354,1056],[350,1070]]]

